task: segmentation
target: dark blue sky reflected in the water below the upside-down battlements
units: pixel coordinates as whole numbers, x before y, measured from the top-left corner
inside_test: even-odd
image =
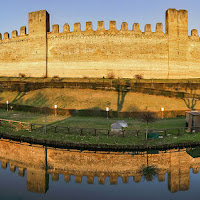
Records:
[[[171,193],[168,190],[168,178],[165,174],[165,181],[159,182],[157,177],[153,181],[146,181],[144,177],[140,183],[135,183],[133,177],[129,177],[127,184],[122,178],[117,179],[116,185],[110,185],[109,177],[106,177],[105,184],[98,183],[98,177],[94,177],[94,183],[88,184],[87,177],[82,177],[81,183],[75,183],[72,175],[70,182],[66,183],[64,175],[59,175],[58,181],[52,181],[49,175],[49,190],[46,194],[38,194],[26,190],[26,172],[24,177],[18,175],[18,169],[11,172],[9,165],[6,169],[0,169],[0,199],[142,199],[142,200],[167,200],[167,199],[199,199],[200,175],[193,174],[190,170],[190,189]]]

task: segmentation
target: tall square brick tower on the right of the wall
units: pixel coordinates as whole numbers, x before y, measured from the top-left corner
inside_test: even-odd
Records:
[[[168,77],[175,73],[184,77],[188,65],[188,12],[169,9],[166,11],[166,34],[168,35]],[[176,71],[174,71],[177,69]]]

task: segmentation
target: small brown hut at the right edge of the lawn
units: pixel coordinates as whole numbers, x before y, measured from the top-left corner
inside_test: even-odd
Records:
[[[193,110],[193,111],[186,111],[185,112],[185,124],[188,128],[188,132],[198,132],[200,131],[200,111]]]

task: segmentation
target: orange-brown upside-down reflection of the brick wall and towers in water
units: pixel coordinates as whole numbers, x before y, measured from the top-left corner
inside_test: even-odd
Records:
[[[128,183],[130,177],[135,182],[142,178],[152,181],[165,181],[168,174],[168,189],[170,192],[189,190],[190,169],[199,172],[200,150],[173,149],[157,152],[91,152],[66,149],[54,149],[28,143],[18,143],[0,140],[1,167],[14,172],[18,168],[19,176],[27,171],[27,190],[46,193],[49,188],[49,174],[52,180],[59,180],[59,174],[64,174],[66,182],[71,175],[75,182],[81,183],[82,177],[87,177],[87,183],[93,184],[98,177],[99,184],[105,184],[106,177],[110,184],[117,184],[119,177],[123,183]]]

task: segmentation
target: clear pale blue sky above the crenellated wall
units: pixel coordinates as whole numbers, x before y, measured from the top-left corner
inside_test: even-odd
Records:
[[[1,2],[2,1],[2,2]],[[200,1],[199,0],[0,0],[0,33],[17,30],[26,26],[28,30],[28,13],[47,10],[50,14],[50,24],[59,24],[60,32],[65,23],[73,31],[74,23],[80,22],[85,30],[87,21],[93,22],[97,29],[98,21],[105,21],[106,29],[109,21],[117,22],[120,29],[122,22],[128,23],[132,30],[133,23],[139,23],[144,31],[145,24],[152,25],[155,31],[156,23],[163,23],[165,32],[165,11],[168,8],[186,9],[189,15],[189,35],[192,29],[200,33]],[[52,28],[51,28],[52,29]]]

